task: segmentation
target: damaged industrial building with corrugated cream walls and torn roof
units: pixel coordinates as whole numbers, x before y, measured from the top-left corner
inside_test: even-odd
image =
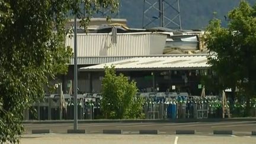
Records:
[[[114,65],[117,72],[135,80],[141,92],[199,95],[200,75],[209,68],[207,50],[200,40],[202,34],[203,31],[161,27],[135,29],[125,23],[94,25],[88,34],[81,30],[77,34],[79,93],[100,93],[104,66]],[[73,37],[67,36],[65,43],[73,48]],[[63,91],[69,93],[73,59],[68,74],[60,79]]]

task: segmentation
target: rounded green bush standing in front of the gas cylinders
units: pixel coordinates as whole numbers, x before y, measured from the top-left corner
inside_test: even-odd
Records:
[[[136,97],[136,82],[116,75],[114,66],[105,68],[103,79],[103,113],[107,119],[135,119],[141,116],[142,98]]]

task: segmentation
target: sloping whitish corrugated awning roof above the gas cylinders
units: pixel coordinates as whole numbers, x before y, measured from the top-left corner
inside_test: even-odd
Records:
[[[104,71],[104,67],[114,65],[117,71],[161,71],[161,70],[187,70],[207,69],[208,55],[158,55],[140,56],[117,62],[80,68],[79,71]]]

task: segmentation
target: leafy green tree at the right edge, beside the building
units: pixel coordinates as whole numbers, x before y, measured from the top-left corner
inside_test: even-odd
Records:
[[[227,28],[213,19],[206,29],[209,63],[221,89],[238,87],[248,101],[256,92],[256,5],[241,1],[228,13],[228,20]]]

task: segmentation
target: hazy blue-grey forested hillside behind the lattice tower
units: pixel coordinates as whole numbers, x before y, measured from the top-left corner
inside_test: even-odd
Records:
[[[156,0],[155,0],[156,1]],[[175,0],[166,0],[174,2]],[[224,21],[224,15],[228,11],[237,7],[240,0],[180,0],[181,25],[183,29],[204,29],[213,18],[213,12],[217,12],[216,17]],[[248,0],[252,5],[255,0]],[[128,20],[129,27],[141,28],[143,15],[143,0],[120,0],[120,18]]]

